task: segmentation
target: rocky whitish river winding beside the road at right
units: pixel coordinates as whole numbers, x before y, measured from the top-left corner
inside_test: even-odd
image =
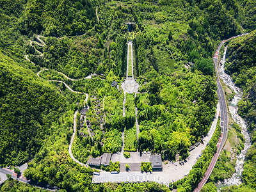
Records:
[[[243,92],[242,92],[241,88],[237,87],[234,84],[234,82],[232,81],[232,78],[230,76],[228,76],[228,74],[225,73],[224,67],[225,67],[225,62],[226,62],[226,53],[227,53],[227,47],[225,47],[223,58],[220,61],[221,65],[218,70],[218,73],[220,75],[220,78],[223,80],[223,82],[225,84],[227,84],[227,86],[229,86],[236,93],[236,95],[234,96],[232,101],[228,104],[228,109],[229,109],[229,113],[231,114],[233,120],[241,126],[241,128],[242,128],[241,133],[243,134],[244,140],[245,140],[244,148],[241,151],[241,154],[237,155],[236,172],[232,175],[231,178],[225,179],[224,183],[223,183],[227,186],[231,186],[234,184],[239,185],[242,183],[241,175],[243,172],[244,159],[245,159],[246,152],[251,147],[251,140],[250,140],[250,135],[247,131],[246,124],[245,124],[243,118],[241,118],[241,116],[239,116],[238,112],[237,112],[237,110],[238,110],[237,102],[239,102],[239,100],[242,99]]]

